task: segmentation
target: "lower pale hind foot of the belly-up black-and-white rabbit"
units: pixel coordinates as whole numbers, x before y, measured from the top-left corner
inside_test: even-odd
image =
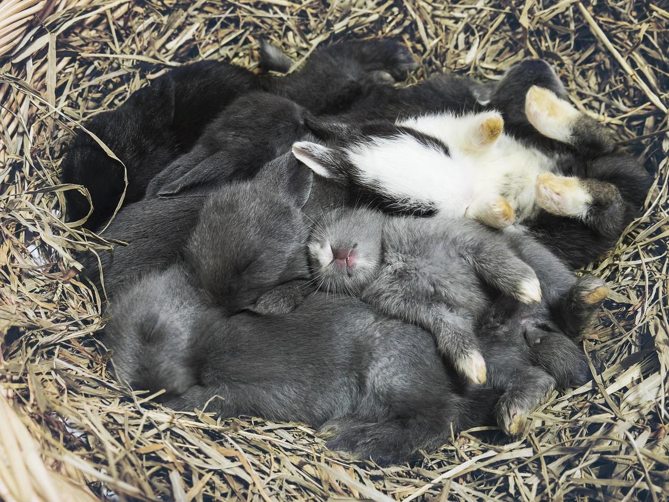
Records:
[[[592,201],[578,178],[553,173],[537,176],[536,192],[539,206],[557,216],[583,217]]]

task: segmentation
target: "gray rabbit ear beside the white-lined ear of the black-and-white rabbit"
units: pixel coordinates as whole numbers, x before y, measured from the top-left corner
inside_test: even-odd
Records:
[[[258,180],[272,191],[282,191],[297,207],[304,207],[311,195],[314,175],[290,153],[266,163],[258,172]]]

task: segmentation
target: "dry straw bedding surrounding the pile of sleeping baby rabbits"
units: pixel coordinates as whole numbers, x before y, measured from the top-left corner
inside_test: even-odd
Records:
[[[0,499],[660,500],[669,492],[669,13],[662,1],[0,1]],[[555,393],[534,432],[464,432],[421,461],[347,463],[313,430],[176,414],[128,394],[93,333],[101,295],[73,256],[110,242],[62,221],[58,163],[86,117],[166,68],[253,68],[269,37],[302,61],[318,44],[395,37],[422,62],[499,78],[557,65],[573,103],[656,175],[640,218],[589,269],[613,288],[593,382]]]

